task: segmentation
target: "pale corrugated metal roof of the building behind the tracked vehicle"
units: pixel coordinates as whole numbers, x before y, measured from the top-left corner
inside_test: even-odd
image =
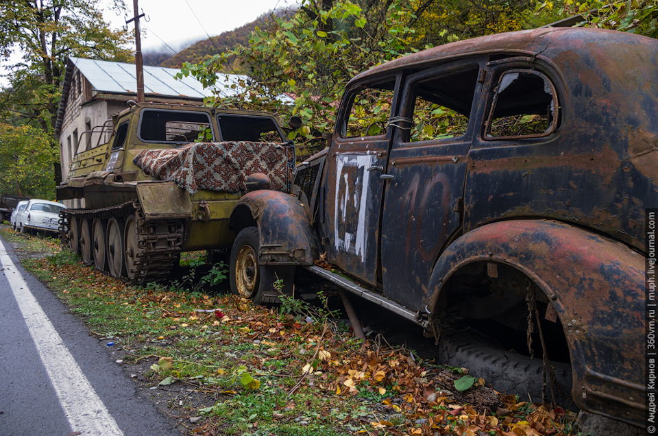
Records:
[[[134,64],[109,62],[84,58],[69,58],[90,82],[93,90],[106,93],[136,93],[137,79]],[[180,70],[162,66],[144,66],[144,93],[203,98],[212,95],[212,88],[206,88],[194,77],[176,80]],[[239,80],[248,80],[246,75],[219,74],[216,89],[223,97],[239,92],[227,85],[238,84]]]

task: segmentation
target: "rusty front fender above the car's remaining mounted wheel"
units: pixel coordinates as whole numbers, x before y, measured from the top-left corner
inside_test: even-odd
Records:
[[[244,195],[229,227],[238,232],[254,225],[260,234],[260,265],[313,265],[319,258],[317,237],[294,195],[266,189]]]

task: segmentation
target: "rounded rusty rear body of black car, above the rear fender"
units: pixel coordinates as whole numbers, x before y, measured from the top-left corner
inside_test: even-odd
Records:
[[[533,68],[557,89],[557,131],[478,140],[468,156],[465,230],[549,217],[644,251],[644,210],[658,207],[658,41],[574,29],[545,37]],[[489,88],[506,68],[504,60],[491,67]]]

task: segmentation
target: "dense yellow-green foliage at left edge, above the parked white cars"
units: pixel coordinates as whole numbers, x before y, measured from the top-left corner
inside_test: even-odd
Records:
[[[54,199],[52,141],[38,128],[0,123],[0,192]]]

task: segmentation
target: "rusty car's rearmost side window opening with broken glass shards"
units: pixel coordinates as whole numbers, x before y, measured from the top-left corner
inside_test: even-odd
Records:
[[[557,128],[557,95],[537,71],[507,71],[493,90],[486,139],[536,138]]]

